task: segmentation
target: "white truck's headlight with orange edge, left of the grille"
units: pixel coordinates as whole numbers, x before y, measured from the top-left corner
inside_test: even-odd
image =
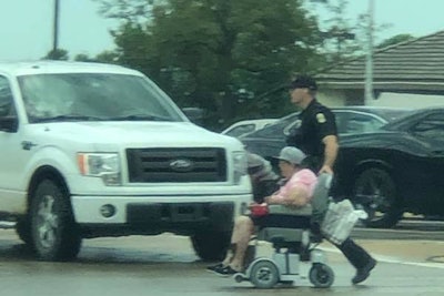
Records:
[[[101,177],[108,186],[120,185],[120,161],[118,153],[78,153],[80,173]]]

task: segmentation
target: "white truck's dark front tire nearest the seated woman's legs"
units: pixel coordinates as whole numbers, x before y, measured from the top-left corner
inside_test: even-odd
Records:
[[[222,261],[230,246],[231,232],[208,231],[191,236],[195,254],[206,262]]]

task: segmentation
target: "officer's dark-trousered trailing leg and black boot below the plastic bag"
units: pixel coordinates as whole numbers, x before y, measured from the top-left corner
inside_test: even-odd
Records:
[[[356,268],[356,275],[352,278],[353,284],[364,282],[370,272],[375,267],[376,261],[350,237],[342,244],[334,244],[349,262]]]

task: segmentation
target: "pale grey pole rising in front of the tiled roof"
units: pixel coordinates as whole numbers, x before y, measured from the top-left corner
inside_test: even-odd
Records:
[[[367,52],[365,60],[365,105],[371,104],[373,98],[373,14],[374,0],[369,0],[367,12]]]

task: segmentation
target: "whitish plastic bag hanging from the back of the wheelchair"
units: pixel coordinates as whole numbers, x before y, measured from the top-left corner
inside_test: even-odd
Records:
[[[354,210],[349,200],[330,203],[321,232],[326,239],[340,245],[350,236],[357,220],[366,217],[367,214],[362,210]]]

